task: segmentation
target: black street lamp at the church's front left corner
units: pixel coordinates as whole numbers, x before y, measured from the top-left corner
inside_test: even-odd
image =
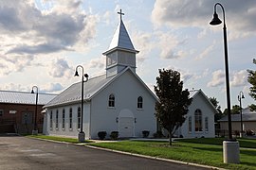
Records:
[[[88,75],[87,74],[83,74],[83,67],[82,67],[82,65],[78,65],[77,66],[77,68],[76,68],[76,73],[75,73],[75,76],[79,76],[79,74],[78,74],[78,68],[82,68],[82,90],[81,90],[81,95],[82,95],[82,99],[81,99],[81,128],[80,128],[80,132],[79,132],[79,136],[78,136],[78,138],[79,138],[79,142],[80,143],[83,143],[84,142],[84,140],[85,140],[85,134],[84,134],[84,132],[82,131],[82,120],[83,120],[83,82],[86,82],[87,80],[88,80]],[[84,81],[83,80],[83,76],[86,78],[86,80]]]

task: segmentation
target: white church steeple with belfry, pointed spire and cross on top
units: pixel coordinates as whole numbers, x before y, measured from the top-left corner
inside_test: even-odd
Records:
[[[103,55],[106,56],[106,72],[107,76],[119,74],[127,66],[131,67],[136,72],[136,54],[135,49],[129,34],[122,22],[124,13],[118,12],[120,15],[119,26],[117,27],[114,37],[109,45],[109,48]]]

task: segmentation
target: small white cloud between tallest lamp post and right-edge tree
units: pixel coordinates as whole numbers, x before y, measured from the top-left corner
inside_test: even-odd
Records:
[[[247,70],[241,70],[232,74],[230,85],[233,87],[245,86],[247,84]]]

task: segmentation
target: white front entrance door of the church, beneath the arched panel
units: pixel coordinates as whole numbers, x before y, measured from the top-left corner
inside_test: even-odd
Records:
[[[134,118],[132,117],[119,118],[119,137],[120,138],[134,137]]]

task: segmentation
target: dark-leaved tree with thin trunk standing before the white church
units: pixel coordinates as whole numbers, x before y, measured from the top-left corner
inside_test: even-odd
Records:
[[[155,93],[158,101],[155,103],[155,117],[159,124],[169,133],[169,144],[172,145],[172,136],[178,127],[185,122],[185,115],[192,103],[190,93],[183,89],[180,74],[172,69],[159,69],[156,77]]]

